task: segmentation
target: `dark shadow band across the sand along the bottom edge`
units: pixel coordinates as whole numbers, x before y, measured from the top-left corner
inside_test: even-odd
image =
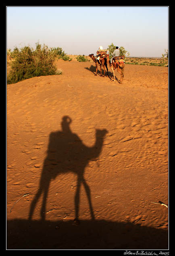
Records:
[[[168,231],[106,220],[7,222],[7,249],[168,250]]]

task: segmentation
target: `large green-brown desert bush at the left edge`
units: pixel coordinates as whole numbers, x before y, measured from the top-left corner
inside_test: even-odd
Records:
[[[57,73],[54,65],[55,54],[46,45],[42,46],[37,43],[35,50],[29,46],[20,50],[16,47],[11,52],[11,57],[13,61],[7,77],[7,84],[15,84],[35,76],[49,76]]]

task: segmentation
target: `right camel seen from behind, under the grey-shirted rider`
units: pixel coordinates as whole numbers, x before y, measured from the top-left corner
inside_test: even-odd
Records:
[[[125,67],[125,63],[124,63],[124,57],[125,56],[114,57],[113,58],[114,61],[113,61],[112,65],[110,63],[109,54],[107,54],[106,57],[107,57],[108,65],[110,66],[110,68],[113,71],[113,79],[112,79],[112,81],[115,81],[115,73],[114,73],[114,71],[115,71],[115,69],[117,69],[117,71],[121,74],[121,78],[119,80],[119,83],[122,84],[123,72],[124,72],[124,67]]]

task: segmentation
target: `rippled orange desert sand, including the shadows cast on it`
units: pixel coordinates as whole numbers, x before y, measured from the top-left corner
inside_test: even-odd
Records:
[[[168,249],[168,68],[56,66],[7,85],[7,249]]]

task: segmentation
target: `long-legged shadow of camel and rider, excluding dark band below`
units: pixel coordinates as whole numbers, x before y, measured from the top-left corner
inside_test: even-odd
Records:
[[[100,155],[104,136],[106,135],[107,130],[96,129],[95,143],[92,147],[87,147],[83,144],[77,134],[71,131],[71,122],[72,120],[69,116],[63,116],[61,122],[62,130],[50,133],[48,151],[43,164],[40,185],[30,206],[30,220],[32,219],[35,205],[37,204],[37,201],[41,197],[42,193],[43,201],[40,214],[41,219],[45,220],[46,199],[48,197],[50,181],[55,179],[58,174],[67,172],[73,172],[77,175],[77,191],[75,193],[75,220],[78,220],[79,216],[81,184],[84,186],[88,197],[91,218],[94,219],[90,187],[84,178],[84,170],[91,159],[95,159]]]

